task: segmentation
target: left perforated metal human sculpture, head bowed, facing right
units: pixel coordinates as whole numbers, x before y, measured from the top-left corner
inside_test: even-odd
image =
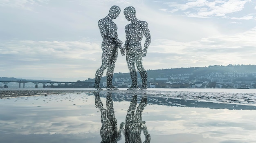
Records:
[[[116,19],[121,12],[118,6],[112,6],[109,10],[108,15],[99,20],[98,26],[100,29],[101,37],[103,42],[101,44],[102,56],[101,56],[101,67],[96,71],[94,88],[102,90],[99,86],[101,77],[106,68],[107,69],[107,90],[118,90],[112,85],[113,73],[115,63],[117,61],[118,48],[121,53],[124,53],[124,49],[121,47],[123,42],[118,39],[117,36],[117,25],[112,21]]]

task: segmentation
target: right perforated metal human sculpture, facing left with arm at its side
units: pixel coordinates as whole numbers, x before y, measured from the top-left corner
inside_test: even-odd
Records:
[[[124,15],[126,20],[131,21],[130,24],[125,26],[126,41],[124,49],[126,51],[126,62],[132,79],[132,86],[127,90],[139,89],[137,85],[137,71],[135,69],[135,64],[142,79],[142,87],[140,90],[146,90],[148,74],[142,65],[142,57],[146,56],[148,45],[151,42],[148,23],[136,18],[136,10],[134,7],[126,7],[124,9]],[[146,37],[146,40],[144,48],[142,49],[141,40],[143,35]]]

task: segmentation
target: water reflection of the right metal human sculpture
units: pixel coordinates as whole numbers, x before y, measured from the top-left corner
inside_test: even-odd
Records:
[[[125,143],[141,143],[141,129],[145,135],[145,141],[143,143],[150,143],[150,134],[147,131],[146,122],[142,121],[142,112],[146,105],[147,97],[142,96],[140,104],[135,112],[137,95],[133,96],[127,111],[125,127],[124,122],[120,124],[120,130],[122,130],[125,136]]]

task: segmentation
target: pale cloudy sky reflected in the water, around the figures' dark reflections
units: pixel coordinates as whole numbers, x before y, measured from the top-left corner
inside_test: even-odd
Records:
[[[145,94],[147,106],[141,116],[142,121],[146,122],[151,143],[256,142],[255,104],[227,100],[213,102],[211,99],[206,100],[207,98],[197,100],[192,97],[178,99],[177,96],[160,96],[151,91],[151,94],[136,93],[136,107]],[[200,96],[204,97],[203,94]],[[120,123],[126,122],[133,95],[135,94],[125,94],[124,91],[112,92],[117,130],[120,129]],[[106,108],[106,92],[99,92],[99,97]],[[0,109],[0,142],[102,141],[101,111],[95,107],[93,92],[0,99]],[[122,136],[118,143],[125,142],[124,135]],[[145,140],[143,132],[141,139],[142,142]]]

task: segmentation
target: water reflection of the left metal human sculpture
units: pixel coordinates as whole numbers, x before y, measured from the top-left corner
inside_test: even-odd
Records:
[[[121,131],[117,130],[117,119],[113,108],[113,100],[111,92],[107,92],[107,108],[103,108],[99,92],[94,92],[95,106],[101,111],[101,143],[117,143],[121,140]]]

